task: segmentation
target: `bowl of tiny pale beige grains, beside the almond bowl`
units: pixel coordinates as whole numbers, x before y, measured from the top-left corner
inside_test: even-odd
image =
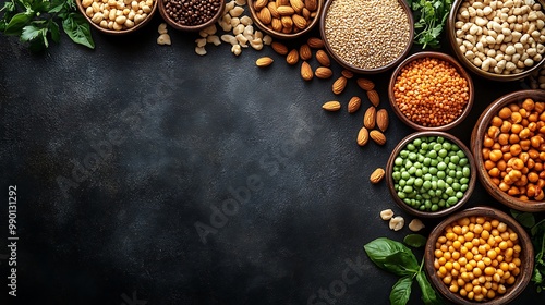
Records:
[[[414,20],[403,0],[329,0],[319,30],[327,52],[360,74],[385,72],[409,53]]]

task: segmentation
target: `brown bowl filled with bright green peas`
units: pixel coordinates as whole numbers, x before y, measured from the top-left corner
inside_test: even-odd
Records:
[[[476,176],[468,147],[439,131],[408,135],[386,164],[386,181],[396,204],[422,218],[443,217],[461,208],[473,193]]]

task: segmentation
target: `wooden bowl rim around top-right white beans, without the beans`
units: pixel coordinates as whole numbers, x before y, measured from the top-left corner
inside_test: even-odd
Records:
[[[458,47],[458,44],[456,41],[456,22],[457,22],[457,12],[460,5],[467,0],[455,0],[452,3],[452,7],[450,9],[450,14],[447,20],[447,37],[450,44],[450,47],[452,48],[452,51],[455,52],[456,57],[460,62],[469,69],[471,72],[475,73],[479,76],[482,76],[484,78],[488,78],[492,81],[499,81],[499,82],[511,82],[511,81],[517,81],[521,80],[528,75],[530,75],[533,71],[538,69],[545,63],[545,53],[542,54],[542,59],[538,62],[535,62],[534,65],[526,68],[523,70],[521,73],[517,74],[497,74],[494,72],[487,72],[482,70],[481,68],[476,66],[473,64],[468,58],[465,58],[464,53],[460,50]],[[545,1],[543,0],[537,0],[536,3],[540,2],[542,4],[542,11],[543,11],[543,5]]]

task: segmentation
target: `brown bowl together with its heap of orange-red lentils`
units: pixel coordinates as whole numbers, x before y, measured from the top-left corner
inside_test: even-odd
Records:
[[[471,111],[471,76],[450,56],[425,51],[410,56],[393,71],[388,86],[393,113],[416,131],[447,131]]]

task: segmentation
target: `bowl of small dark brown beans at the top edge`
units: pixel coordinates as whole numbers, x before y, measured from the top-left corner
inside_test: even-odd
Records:
[[[223,14],[225,0],[156,0],[167,24],[184,32],[198,32],[211,26]]]

